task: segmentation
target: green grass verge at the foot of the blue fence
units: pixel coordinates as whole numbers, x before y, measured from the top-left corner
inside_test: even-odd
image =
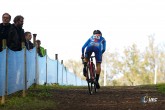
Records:
[[[56,102],[50,100],[52,94],[47,92],[53,89],[51,86],[30,87],[26,97],[22,97],[22,91],[7,96],[4,105],[0,110],[47,110],[56,108]]]

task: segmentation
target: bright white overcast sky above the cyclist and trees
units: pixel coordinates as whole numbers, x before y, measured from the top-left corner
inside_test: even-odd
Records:
[[[24,30],[37,34],[52,59],[81,57],[94,30],[102,32],[110,51],[136,43],[145,48],[148,36],[165,43],[164,0],[0,0],[0,14],[24,17]]]

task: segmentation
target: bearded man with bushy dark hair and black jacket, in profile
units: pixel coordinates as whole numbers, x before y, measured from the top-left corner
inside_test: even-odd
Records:
[[[21,43],[25,41],[24,30],[22,29],[24,23],[24,17],[18,15],[14,18],[14,23],[9,30],[9,36],[7,40],[7,46],[13,51],[22,50]]]

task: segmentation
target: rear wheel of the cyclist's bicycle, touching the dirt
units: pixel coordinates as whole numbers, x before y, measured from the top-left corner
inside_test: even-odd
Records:
[[[93,92],[94,92],[94,80],[92,79],[91,77],[91,74],[90,74],[90,68],[87,67],[87,83],[88,83],[88,91],[89,91],[89,94],[92,95]]]

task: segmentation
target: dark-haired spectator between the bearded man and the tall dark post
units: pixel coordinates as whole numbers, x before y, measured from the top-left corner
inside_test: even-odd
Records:
[[[30,41],[31,39],[31,32],[25,32],[25,46],[27,50],[31,50],[34,47],[33,43]]]

